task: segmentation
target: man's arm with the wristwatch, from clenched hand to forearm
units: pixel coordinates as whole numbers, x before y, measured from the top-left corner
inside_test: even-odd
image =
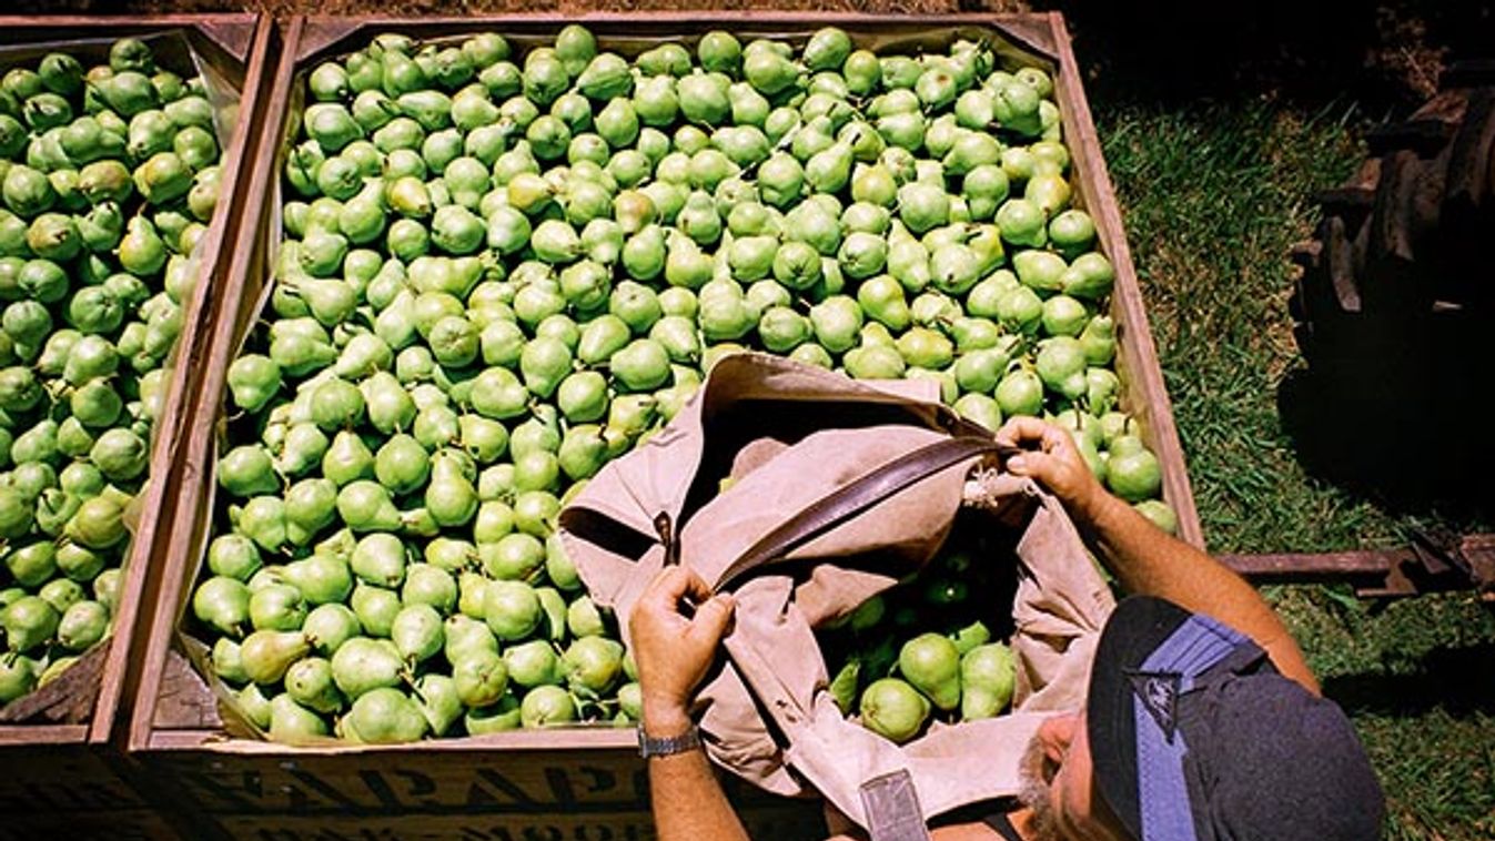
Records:
[[[686,599],[697,605],[691,618],[680,612]],[[682,566],[661,572],[634,605],[628,629],[646,735],[673,738],[691,729],[691,696],[710,669],[731,615],[731,598],[712,596],[706,581]],[[649,801],[659,841],[748,840],[701,748],[650,757]]]

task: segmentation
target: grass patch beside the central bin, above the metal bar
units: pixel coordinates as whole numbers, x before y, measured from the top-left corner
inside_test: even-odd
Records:
[[[1347,112],[1269,103],[1100,112],[1153,336],[1217,551],[1314,551],[1395,538],[1393,518],[1314,482],[1277,412],[1298,364],[1287,252],[1317,220],[1308,196],[1350,175]]]

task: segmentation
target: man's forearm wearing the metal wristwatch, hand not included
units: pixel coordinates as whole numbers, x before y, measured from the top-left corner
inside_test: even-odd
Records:
[[[644,711],[644,732],[653,738],[677,736],[689,727],[691,719],[683,711]],[[647,762],[649,799],[659,841],[748,840],[704,750],[656,756]]]

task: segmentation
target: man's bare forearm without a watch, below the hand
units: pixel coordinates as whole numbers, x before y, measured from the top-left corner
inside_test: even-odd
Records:
[[[1277,612],[1232,569],[1154,527],[1108,493],[1100,494],[1082,520],[1088,521],[1106,568],[1129,593],[1157,596],[1212,615],[1265,648],[1283,675],[1319,690]]]

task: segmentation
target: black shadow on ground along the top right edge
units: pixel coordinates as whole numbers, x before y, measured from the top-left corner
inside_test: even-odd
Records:
[[[1446,58],[1489,54],[1495,33],[1489,0],[1033,6],[1064,13],[1091,99],[1165,105],[1266,94],[1313,108],[1359,102],[1371,114],[1404,109],[1432,93]]]

